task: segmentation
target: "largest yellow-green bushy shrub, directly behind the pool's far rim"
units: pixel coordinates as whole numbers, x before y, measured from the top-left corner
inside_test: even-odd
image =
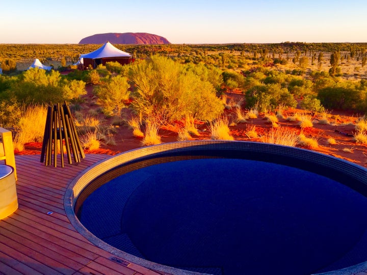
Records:
[[[153,56],[132,66],[129,76],[134,83],[132,107],[144,119],[162,125],[190,113],[209,121],[223,112],[213,85],[170,59]]]

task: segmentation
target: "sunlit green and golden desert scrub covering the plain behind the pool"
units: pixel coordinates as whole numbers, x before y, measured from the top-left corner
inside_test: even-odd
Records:
[[[195,139],[200,136],[198,121],[211,125],[212,139],[232,140],[224,114],[229,114],[230,125],[241,126],[260,112],[272,125],[267,142],[312,149],[318,147],[317,140],[304,134],[287,136],[289,129],[276,128],[277,119],[312,127],[311,115],[287,112],[284,118],[284,111],[298,108],[320,124],[333,125],[330,120],[337,119],[326,110],[343,110],[362,116],[354,140],[366,144],[367,43],[115,46],[134,53],[135,64],[109,62],[80,71],[72,65],[79,54],[100,45],[0,44],[0,126],[21,132],[26,127],[21,121],[35,104],[66,101],[86,135],[85,148],[97,148],[97,141],[114,143],[113,126],[127,127],[121,116],[125,108],[136,116],[127,124],[143,145],[161,143],[160,127],[175,123],[184,123],[177,127],[178,140]],[[26,70],[35,58],[54,69]],[[94,108],[89,110],[82,107],[86,87],[94,87]],[[237,93],[240,99],[236,102],[225,92]],[[103,121],[97,117],[110,119],[113,126],[100,127]],[[37,127],[43,130],[44,124]],[[256,128],[248,127],[246,135],[258,137]]]

